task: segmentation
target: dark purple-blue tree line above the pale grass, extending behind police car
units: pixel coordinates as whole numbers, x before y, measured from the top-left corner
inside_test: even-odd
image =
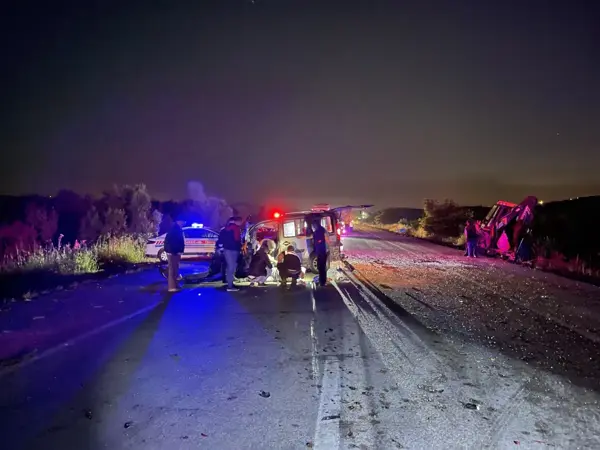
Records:
[[[169,228],[173,216],[218,227],[233,214],[225,200],[206,195],[201,183],[190,183],[188,191],[182,202],[153,201],[144,184],[114,186],[99,197],[62,190],[52,197],[13,198],[2,208],[0,261],[57,245],[155,235]]]

